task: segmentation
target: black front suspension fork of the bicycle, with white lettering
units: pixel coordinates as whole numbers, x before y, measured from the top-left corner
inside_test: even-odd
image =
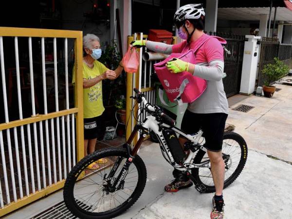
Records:
[[[139,128],[140,127],[138,127],[137,125],[134,127],[134,130],[132,131],[132,133],[131,133],[131,135],[130,135],[127,143],[126,143],[126,146],[128,148],[129,148],[129,145],[132,143],[135,135],[137,134]],[[134,160],[134,158],[135,158],[135,156],[137,154],[138,149],[140,148],[140,146],[141,146],[144,138],[146,137],[145,135],[146,134],[143,134],[139,138],[139,140],[136,143],[136,145],[134,146],[133,150],[132,151],[129,151],[130,153],[128,154],[129,157],[128,157],[126,163],[124,164],[122,170],[120,171],[120,173],[119,173],[117,179],[115,180],[115,182],[113,183],[113,185],[110,186],[110,191],[111,192],[114,192],[114,191],[118,190],[120,188],[121,183],[125,180],[125,178],[127,176],[127,173],[128,173],[129,166],[130,166],[130,164],[132,164],[132,162],[133,162],[133,160]],[[120,163],[121,163],[121,161],[120,161]]]

